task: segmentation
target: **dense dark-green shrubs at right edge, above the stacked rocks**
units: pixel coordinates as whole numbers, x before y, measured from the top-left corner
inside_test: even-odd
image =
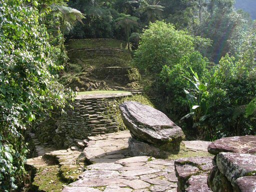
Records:
[[[187,98],[191,96],[203,100],[203,103],[198,100],[196,105],[199,107],[192,111],[193,126],[197,127],[200,136],[216,139],[222,136],[255,134],[255,118],[244,115],[246,104],[256,94],[255,80],[255,69],[248,71],[242,61],[235,61],[234,57],[227,54],[214,67],[201,91],[197,90],[200,89],[197,83],[198,88],[191,88],[187,92]],[[191,101],[188,99],[190,104]],[[253,112],[252,101],[247,107],[247,113]]]

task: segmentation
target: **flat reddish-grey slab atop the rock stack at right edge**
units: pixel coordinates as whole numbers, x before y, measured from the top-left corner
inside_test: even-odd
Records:
[[[215,155],[219,152],[256,153],[256,136],[220,138],[209,144],[208,152]]]

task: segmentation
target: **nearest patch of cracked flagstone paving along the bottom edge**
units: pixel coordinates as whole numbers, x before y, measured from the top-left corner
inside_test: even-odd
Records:
[[[103,191],[148,192],[175,191],[173,160],[135,156],[110,163],[96,163],[86,167],[79,180],[66,186],[64,192]],[[167,177],[164,177],[167,175]],[[92,188],[95,188],[93,190]]]

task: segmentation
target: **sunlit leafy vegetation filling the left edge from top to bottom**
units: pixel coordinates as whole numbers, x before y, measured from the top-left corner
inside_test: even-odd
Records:
[[[53,108],[65,107],[73,93],[52,75],[63,66],[49,57],[37,9],[25,0],[0,0],[0,7],[0,190],[10,191],[25,174],[25,129]]]

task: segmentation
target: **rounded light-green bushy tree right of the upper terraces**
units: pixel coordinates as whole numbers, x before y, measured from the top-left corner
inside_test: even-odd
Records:
[[[194,38],[191,35],[175,30],[172,24],[156,21],[150,23],[141,35],[134,60],[140,69],[158,73],[163,65],[173,66],[183,55],[193,51]]]

